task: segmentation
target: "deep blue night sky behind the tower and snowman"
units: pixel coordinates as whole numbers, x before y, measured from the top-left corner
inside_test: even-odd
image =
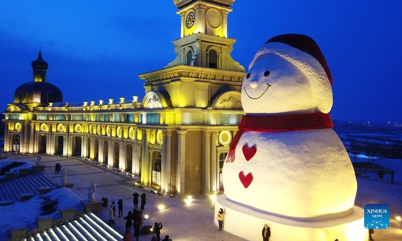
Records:
[[[148,6],[148,3],[151,3]],[[333,75],[334,119],[402,122],[402,1],[246,1],[228,16],[233,58],[248,68],[271,37],[298,33],[321,47]],[[0,2],[0,109],[32,81],[42,45],[47,81],[63,100],[144,95],[137,74],[171,62],[180,16],[172,0]]]

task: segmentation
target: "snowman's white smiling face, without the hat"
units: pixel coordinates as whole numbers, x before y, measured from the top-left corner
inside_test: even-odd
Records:
[[[317,100],[306,75],[289,62],[272,56],[257,61],[242,85],[246,113],[314,112]]]

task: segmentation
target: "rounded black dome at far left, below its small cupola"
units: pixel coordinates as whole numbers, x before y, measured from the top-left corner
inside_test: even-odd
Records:
[[[16,89],[14,93],[14,103],[35,102],[63,102],[63,93],[56,85],[49,82],[27,82]]]

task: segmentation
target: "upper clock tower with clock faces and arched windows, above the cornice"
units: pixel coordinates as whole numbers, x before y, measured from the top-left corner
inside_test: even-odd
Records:
[[[180,39],[173,41],[176,58],[166,67],[190,65],[245,71],[230,55],[227,17],[234,0],[173,0],[181,17]]]

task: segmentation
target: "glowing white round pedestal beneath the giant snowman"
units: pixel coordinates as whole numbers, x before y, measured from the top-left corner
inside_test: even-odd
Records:
[[[248,240],[262,239],[261,232],[265,223],[270,227],[272,240],[368,240],[364,210],[357,206],[342,217],[324,220],[292,219],[235,203],[226,195],[221,195],[215,203],[214,222],[217,226],[216,216],[220,208],[225,212],[223,230]]]

